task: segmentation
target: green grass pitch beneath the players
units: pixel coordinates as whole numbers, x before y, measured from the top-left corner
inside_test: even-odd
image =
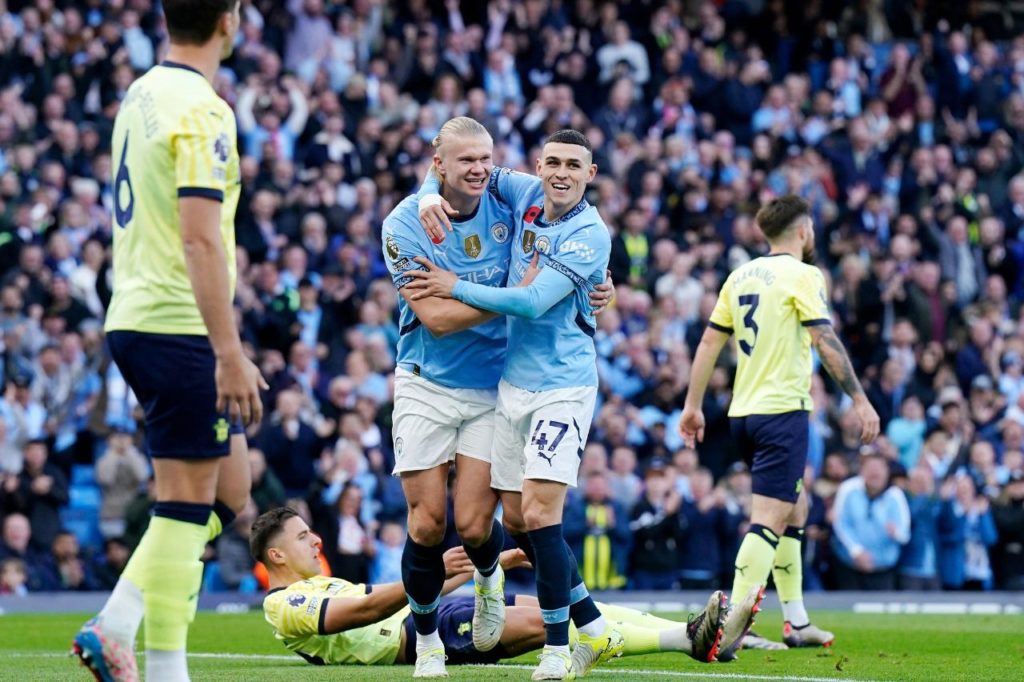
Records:
[[[680,614],[675,614],[679,617]],[[66,655],[85,614],[0,616],[0,680],[91,680]],[[673,617],[672,614],[669,617]],[[1024,616],[815,613],[836,632],[825,649],[743,651],[735,663],[697,664],[680,654],[624,657],[589,677],[605,680],[1022,680]],[[777,637],[779,614],[757,629]],[[202,612],[189,635],[193,680],[411,680],[410,667],[316,668],[274,641],[262,614]],[[140,662],[141,663],[141,662]],[[528,680],[534,654],[510,666],[450,667],[454,680]],[[141,666],[140,666],[141,668]]]

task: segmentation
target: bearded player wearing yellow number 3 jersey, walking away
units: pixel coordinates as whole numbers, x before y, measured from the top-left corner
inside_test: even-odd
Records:
[[[708,380],[729,337],[739,349],[729,421],[733,440],[751,465],[751,526],[736,553],[733,595],[771,573],[782,602],[787,646],[829,646],[833,634],[810,622],[804,608],[801,541],[807,521],[803,493],[811,402],[811,347],[840,388],[853,398],[861,438],[879,433],[874,413],[850,358],[831,327],[825,281],[812,263],[814,221],[807,202],[779,197],[755,217],[771,246],[761,258],[729,274],[697,346],[679,421],[692,447],[703,439],[701,412]],[[737,647],[742,638],[736,640]],[[720,660],[735,658],[722,647]]]

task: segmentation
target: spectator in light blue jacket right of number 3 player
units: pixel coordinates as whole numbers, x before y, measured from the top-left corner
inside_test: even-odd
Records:
[[[889,481],[889,465],[864,457],[860,473],[840,485],[833,508],[833,551],[841,590],[893,590],[900,548],[910,538],[903,493]]]

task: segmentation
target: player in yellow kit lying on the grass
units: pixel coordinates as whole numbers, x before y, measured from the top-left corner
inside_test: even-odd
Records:
[[[269,576],[263,612],[274,636],[318,666],[414,664],[416,637],[402,584],[354,585],[321,576],[319,545],[319,538],[287,507],[266,512],[253,524],[250,549],[253,557],[266,565]],[[506,570],[527,565],[521,550],[503,552],[501,562]],[[473,564],[462,548],[444,553],[444,594],[473,576]],[[753,623],[760,608],[758,594],[752,592],[727,614],[725,596],[715,592],[705,610],[685,624],[620,606],[598,607],[622,632],[626,655],[679,651],[710,662],[720,646],[730,644],[722,641],[727,617],[744,626],[729,629],[737,634]],[[473,647],[473,598],[441,602],[438,632],[449,664],[495,663],[544,646],[544,621],[537,599],[507,594],[506,603],[501,641],[489,651],[480,652]]]

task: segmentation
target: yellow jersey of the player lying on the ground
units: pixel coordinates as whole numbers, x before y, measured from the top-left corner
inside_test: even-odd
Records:
[[[273,627],[274,637],[309,663],[390,665],[398,655],[408,606],[373,625],[324,634],[331,599],[365,598],[369,591],[366,585],[317,576],[268,593],[263,615]]]

